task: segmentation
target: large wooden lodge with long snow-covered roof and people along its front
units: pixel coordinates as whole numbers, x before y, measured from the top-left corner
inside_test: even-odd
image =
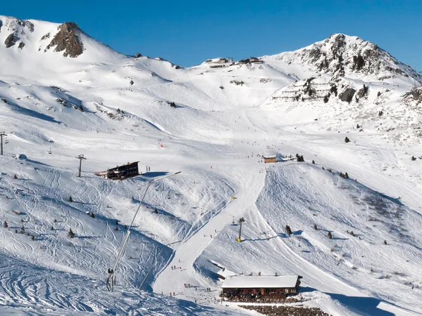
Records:
[[[225,298],[286,298],[298,293],[300,275],[234,275],[224,279]]]

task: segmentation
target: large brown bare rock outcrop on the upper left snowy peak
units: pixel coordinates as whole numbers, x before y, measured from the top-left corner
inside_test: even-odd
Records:
[[[84,44],[79,37],[81,32],[75,22],[63,23],[58,27],[58,33],[46,47],[46,50],[56,46],[54,51],[63,51],[63,56],[76,58],[84,52]]]

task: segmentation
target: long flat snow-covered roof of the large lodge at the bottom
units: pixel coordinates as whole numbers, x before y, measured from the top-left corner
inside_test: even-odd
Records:
[[[223,289],[296,287],[298,275],[234,275],[226,277]]]

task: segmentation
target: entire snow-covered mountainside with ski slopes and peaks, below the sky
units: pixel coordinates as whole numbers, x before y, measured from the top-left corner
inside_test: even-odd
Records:
[[[343,34],[184,68],[73,22],[0,16],[0,313],[250,313],[217,304],[217,262],[302,275],[305,305],[332,315],[421,315],[421,82]],[[135,161],[151,171],[94,175]],[[108,293],[144,190],[174,171],[148,190]]]

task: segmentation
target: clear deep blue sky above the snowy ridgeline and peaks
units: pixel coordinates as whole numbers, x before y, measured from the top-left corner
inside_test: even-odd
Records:
[[[1,15],[76,22],[128,55],[178,65],[207,58],[272,55],[357,35],[422,70],[422,1],[2,1]]]

